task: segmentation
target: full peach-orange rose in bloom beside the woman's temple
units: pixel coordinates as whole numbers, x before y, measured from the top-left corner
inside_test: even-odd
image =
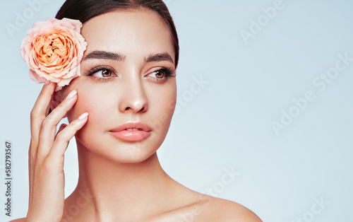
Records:
[[[78,20],[49,18],[36,22],[20,45],[20,54],[30,66],[30,78],[36,83],[52,81],[56,90],[80,76],[80,62],[87,42]]]

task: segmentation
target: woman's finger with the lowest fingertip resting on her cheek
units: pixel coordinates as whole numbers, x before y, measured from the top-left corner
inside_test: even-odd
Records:
[[[57,158],[64,156],[68,142],[75,136],[76,132],[80,130],[88,120],[88,112],[80,115],[78,119],[68,124],[61,132],[56,135],[52,150],[48,154],[48,158]]]

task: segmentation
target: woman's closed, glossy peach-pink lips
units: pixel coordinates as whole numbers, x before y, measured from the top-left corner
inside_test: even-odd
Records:
[[[127,129],[138,129],[135,131]],[[152,129],[141,122],[128,122],[109,131],[109,134],[124,141],[142,141],[150,136]]]

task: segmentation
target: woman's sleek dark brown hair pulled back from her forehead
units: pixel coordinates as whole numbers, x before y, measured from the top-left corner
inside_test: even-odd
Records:
[[[179,62],[177,29],[175,28],[174,21],[172,16],[170,16],[167,6],[162,0],[66,0],[58,13],[56,13],[55,18],[71,18],[85,23],[90,20],[90,18],[99,16],[102,13],[128,8],[148,8],[157,12],[163,18],[172,34],[175,51],[175,67],[177,67]]]

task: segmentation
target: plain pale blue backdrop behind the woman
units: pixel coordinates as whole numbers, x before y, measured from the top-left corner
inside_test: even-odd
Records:
[[[6,24],[16,25],[17,13],[30,5],[17,0],[1,6],[0,178],[5,141],[13,142],[13,217],[1,207],[1,221],[27,213],[29,115],[42,88],[28,78],[20,41],[35,21],[54,17],[63,2],[40,4],[12,37]],[[275,2],[166,1],[181,51],[178,110],[158,151],[162,167],[186,187],[212,188],[263,221],[352,221],[353,62],[325,90],[313,81],[335,68],[338,54],[353,57],[353,2],[284,0],[284,8],[266,21],[262,8]],[[241,30],[250,32],[251,20],[258,19],[261,31],[246,44]],[[191,90],[195,78],[208,81],[198,92]],[[293,100],[308,90],[315,100],[275,134],[272,123],[281,123],[282,110],[294,112]],[[76,186],[76,158],[72,140],[66,196]],[[225,168],[239,173],[229,185],[222,184]],[[4,182],[0,187],[4,203]],[[315,199],[329,203],[314,206],[318,214]]]

